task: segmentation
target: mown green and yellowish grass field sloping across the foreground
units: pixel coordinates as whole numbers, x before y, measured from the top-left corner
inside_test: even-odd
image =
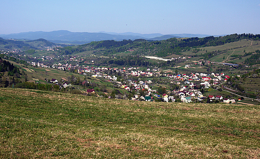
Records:
[[[259,106],[0,88],[1,158],[260,158]]]

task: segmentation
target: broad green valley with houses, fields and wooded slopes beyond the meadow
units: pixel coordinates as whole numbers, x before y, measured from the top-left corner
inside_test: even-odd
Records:
[[[20,67],[23,74],[19,81],[22,83],[26,77],[26,82],[35,85],[31,88],[37,88],[40,83],[52,85],[52,91],[55,88],[54,91],[105,98],[200,103],[244,100],[258,104],[258,82],[253,85],[246,81],[260,77],[260,63],[255,59],[253,65],[245,63],[258,55],[260,41],[252,39],[255,37],[257,35],[232,34],[150,42],[106,40],[77,46],[55,46],[46,40],[34,40],[36,43],[31,41],[30,45],[40,46],[44,42],[45,49],[2,50],[1,57]],[[175,44],[170,46],[172,42]],[[168,53],[162,54],[163,50]],[[169,54],[170,51],[173,52]],[[158,52],[163,56],[158,56]],[[9,87],[14,86],[6,77],[5,81]],[[222,91],[228,90],[225,88],[239,92],[235,95]]]

